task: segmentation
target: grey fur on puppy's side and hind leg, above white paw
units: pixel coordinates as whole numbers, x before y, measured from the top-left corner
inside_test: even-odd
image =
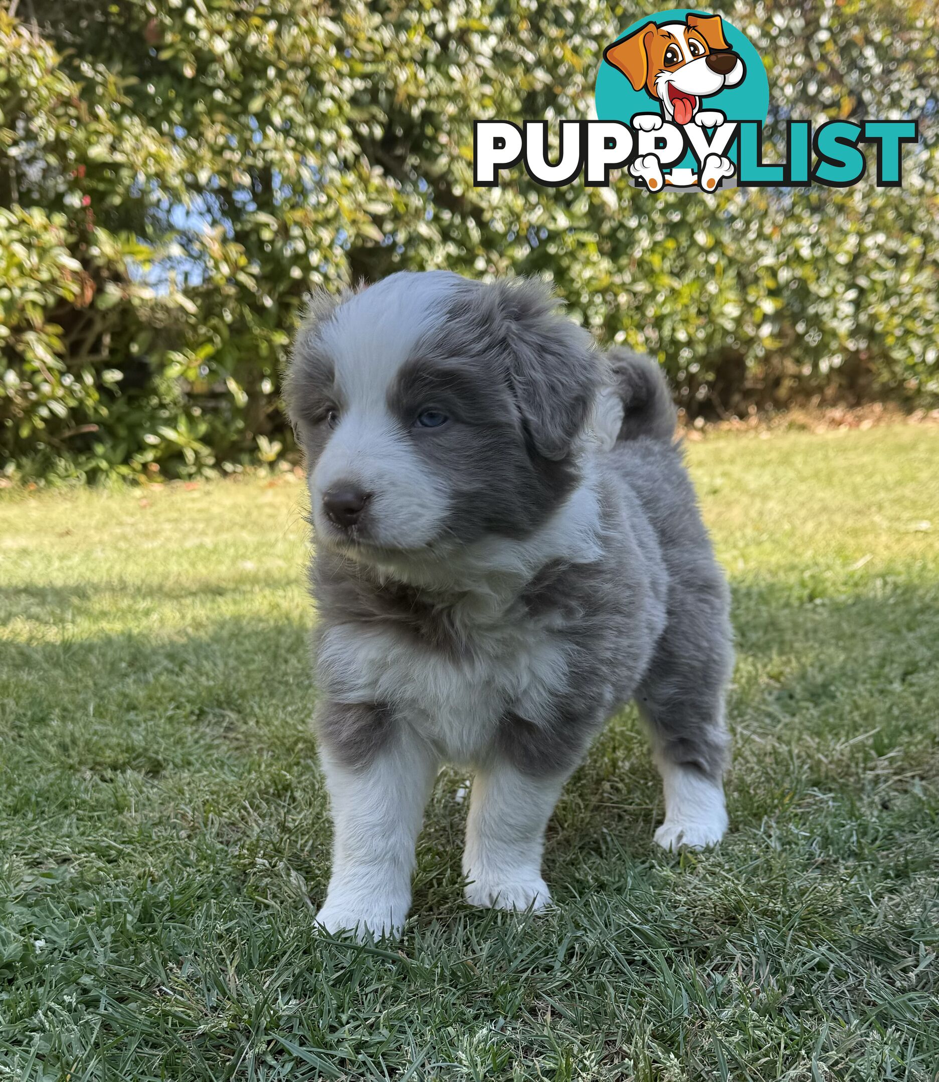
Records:
[[[603,560],[552,562],[521,595],[533,618],[562,622],[566,687],[547,716],[508,712],[499,750],[527,773],[570,769],[610,713],[635,697],[656,753],[717,780],[728,760],[730,596],[680,448],[630,440],[602,474]]]

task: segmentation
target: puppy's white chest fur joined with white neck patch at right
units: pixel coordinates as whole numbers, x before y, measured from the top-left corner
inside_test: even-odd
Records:
[[[532,617],[519,593],[551,559],[600,557],[589,460],[585,473],[531,539],[485,542],[454,565],[457,581],[475,589],[451,613],[452,649],[397,626],[339,623],[321,639],[321,687],[339,702],[393,708],[402,724],[457,763],[485,756],[506,710],[534,725],[549,724],[568,683],[569,629],[557,615]]]

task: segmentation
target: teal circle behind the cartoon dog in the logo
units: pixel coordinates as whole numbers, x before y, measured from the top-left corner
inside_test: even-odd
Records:
[[[650,23],[661,26],[663,23],[683,23],[688,15],[712,14],[713,12],[700,11],[697,8],[675,8],[671,11],[660,11],[627,26],[608,44],[612,45],[623,38],[628,38]],[[769,113],[769,79],[767,79],[766,68],[762,66],[759,53],[745,35],[741,34],[722,16],[721,24],[728,45],[743,61],[746,72],[736,87],[727,87],[710,97],[702,98],[700,107],[702,109],[719,109],[728,120],[757,120],[762,123],[767,113]],[[664,118],[658,100],[648,94],[644,88],[634,90],[626,76],[605,60],[600,61],[595,98],[597,117],[600,120],[621,120],[629,124],[638,113],[658,113]],[[729,157],[736,160],[735,144]],[[693,158],[689,151],[680,164],[690,164],[692,161]]]

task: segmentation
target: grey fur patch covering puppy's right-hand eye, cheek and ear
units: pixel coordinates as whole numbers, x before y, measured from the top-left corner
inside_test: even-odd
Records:
[[[428,401],[454,418],[418,449],[451,498],[448,536],[531,533],[579,476],[575,444],[600,381],[590,335],[536,279],[465,282],[399,374],[402,418]]]

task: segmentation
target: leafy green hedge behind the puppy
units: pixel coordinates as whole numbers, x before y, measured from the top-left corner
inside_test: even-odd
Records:
[[[0,471],[276,460],[304,292],[397,269],[550,276],[690,415],[935,404],[934,0],[707,6],[764,56],[771,126],[920,119],[903,189],[473,188],[473,119],[590,116],[647,0],[6,0]]]

